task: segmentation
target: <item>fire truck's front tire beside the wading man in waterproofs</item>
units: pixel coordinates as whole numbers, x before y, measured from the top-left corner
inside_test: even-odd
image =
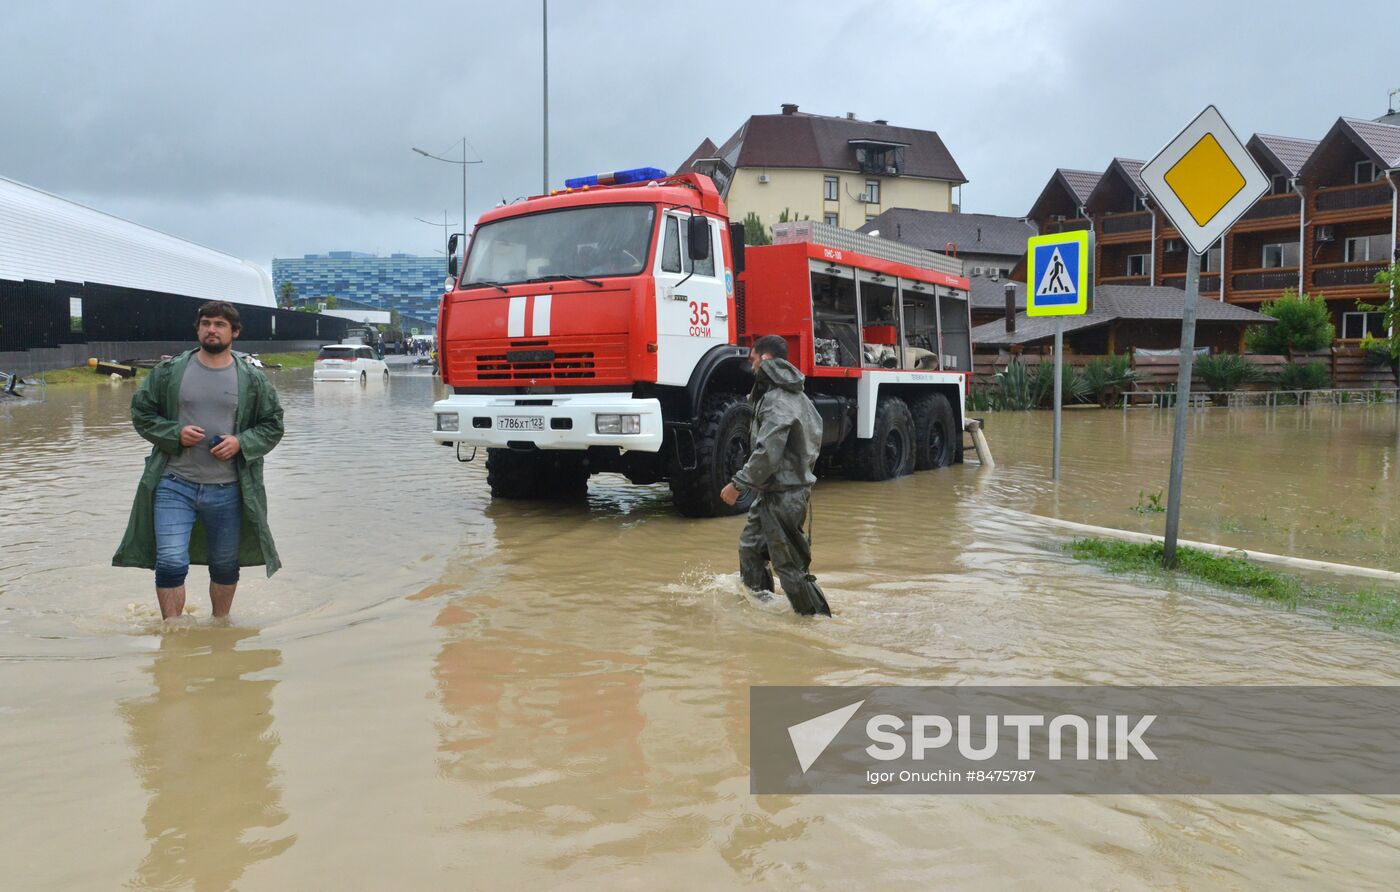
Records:
[[[752,492],[731,507],[720,499],[720,490],[749,461],[752,424],[753,407],[738,393],[706,396],[696,430],[696,466],[690,471],[676,468],[671,473],[671,500],[676,511],[685,517],[729,517],[749,510]]]

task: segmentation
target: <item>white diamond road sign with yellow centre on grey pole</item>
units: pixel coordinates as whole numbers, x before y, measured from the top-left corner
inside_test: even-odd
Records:
[[[1142,167],[1142,183],[1196,253],[1268,190],[1268,176],[1214,105]]]

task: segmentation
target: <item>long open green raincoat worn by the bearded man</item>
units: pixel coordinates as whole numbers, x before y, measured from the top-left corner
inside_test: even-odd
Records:
[[[195,350],[171,357],[151,370],[132,396],[132,424],[136,433],[150,440],[155,448],[146,458],[146,472],[136,486],[132,517],[126,535],[112,556],[115,567],[155,567],[155,485],[165,473],[165,464],[179,455],[179,385]],[[281,567],[277,548],[267,528],[267,494],[262,483],[262,457],[272,452],[281,440],[281,403],[267,378],[248,364],[242,354],[234,354],[238,367],[238,409],[234,427],[238,437],[238,487],[244,501],[244,525],[238,543],[241,567],[266,566],[267,576]],[[197,361],[197,360],[195,360]],[[189,562],[209,563],[204,525],[195,522],[189,538]]]

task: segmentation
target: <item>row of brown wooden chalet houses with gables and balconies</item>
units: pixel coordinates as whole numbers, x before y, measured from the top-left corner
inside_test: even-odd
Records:
[[[1372,280],[1396,256],[1400,125],[1340,118],[1320,141],[1259,133],[1246,148],[1271,188],[1200,258],[1201,297],[1257,307],[1285,288],[1322,294],[1338,340],[1385,335],[1357,301],[1380,297]],[[1040,234],[1092,228],[1095,284],[1184,288],[1190,252],[1141,169],[1128,158],[1103,174],[1057,169],[1028,218]]]

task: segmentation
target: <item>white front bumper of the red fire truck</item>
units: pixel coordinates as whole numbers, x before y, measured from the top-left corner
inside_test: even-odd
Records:
[[[519,405],[539,403],[539,405]],[[549,405],[543,405],[549,403]],[[438,416],[456,413],[451,430],[437,430]],[[599,414],[636,414],[641,433],[599,434]],[[538,421],[540,430],[510,430],[503,419]],[[542,393],[538,396],[456,393],[433,403],[433,440],[470,447],[505,447],[532,442],[540,450],[587,450],[592,445],[659,452],[664,426],[661,400],[634,399],[626,393]],[[515,421],[521,424],[522,421]]]

